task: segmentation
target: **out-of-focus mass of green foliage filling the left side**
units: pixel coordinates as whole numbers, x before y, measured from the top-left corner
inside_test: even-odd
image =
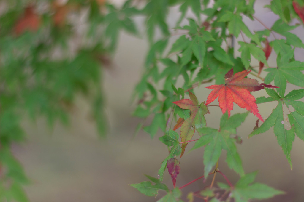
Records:
[[[1,7],[0,201],[25,202],[22,184],[29,180],[11,152],[12,143],[25,139],[22,120],[45,117],[50,127],[69,125],[80,95],[105,136],[102,72],[120,28],[110,28],[118,13],[104,1],[7,0]],[[121,26],[136,32],[130,24],[126,15]]]

